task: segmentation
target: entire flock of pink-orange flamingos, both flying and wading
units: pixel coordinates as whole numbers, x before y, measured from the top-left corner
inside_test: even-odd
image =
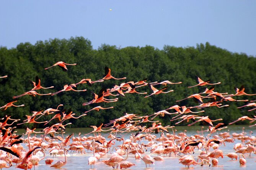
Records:
[[[63,69],[63,71],[67,71],[66,65],[76,65],[76,64],[67,64],[62,61],[59,61],[55,63],[53,66],[59,66]],[[53,67],[51,66],[51,67]],[[45,68],[45,70],[51,68]],[[6,78],[7,75],[0,77],[0,78]],[[39,90],[41,88],[44,88],[41,86],[41,81],[38,77],[36,77],[36,82],[32,82],[34,87],[23,93],[22,95],[13,96],[13,99],[20,98],[24,95],[57,95],[58,93],[61,93],[63,91],[86,91],[86,90],[77,90],[78,84],[87,83],[89,86],[91,86],[93,83],[103,82],[104,80],[109,79],[116,79],[116,80],[122,80],[126,79],[126,77],[117,79],[111,75],[111,69],[108,67],[105,67],[105,77],[102,79],[92,81],[91,79],[82,79],[78,83],[73,83],[71,85],[65,85],[64,88],[60,91],[57,91],[55,93],[47,93],[47,94],[39,94],[36,92],[36,90]],[[196,87],[196,86],[204,86],[204,85],[217,85],[218,83],[209,83],[210,81],[203,81],[199,77],[198,84],[193,85],[188,88]],[[119,86],[115,85],[111,89],[101,89],[98,94],[93,93],[93,99],[91,101],[88,101],[86,103],[83,103],[83,105],[88,105],[92,103],[101,103],[101,102],[117,102],[118,98],[114,99],[108,99],[107,96],[125,96],[127,93],[138,93],[138,94],[144,94],[147,93],[140,93],[137,90],[139,87],[148,86],[153,91],[152,94],[145,96],[145,98],[152,96],[152,95],[159,95],[160,93],[170,93],[173,90],[165,91],[167,88],[164,87],[161,90],[158,90],[155,88],[155,85],[164,85],[167,84],[180,84],[182,82],[178,83],[172,83],[168,80],[163,82],[152,82],[147,83],[146,80],[142,80],[139,82],[127,82],[127,83],[121,83]],[[47,88],[53,88],[47,87]],[[13,124],[15,122],[20,121],[20,119],[11,119],[10,116],[5,116],[0,120],[0,150],[1,150],[1,156],[0,156],[0,168],[8,168],[13,165],[13,163],[16,163],[16,168],[21,169],[31,169],[33,165],[39,165],[39,161],[43,160],[46,156],[46,151],[49,149],[49,154],[54,157],[54,155],[60,155],[64,154],[65,161],[57,161],[54,164],[53,159],[48,158],[45,160],[45,164],[49,164],[50,167],[54,168],[61,168],[67,163],[67,152],[73,151],[73,152],[80,152],[81,154],[85,154],[85,150],[87,151],[91,150],[93,151],[93,156],[88,158],[88,165],[92,166],[95,165],[96,162],[98,162],[101,158],[104,159],[104,156],[106,154],[111,154],[109,159],[102,160],[106,165],[111,166],[113,168],[129,168],[131,166],[134,166],[135,164],[126,161],[129,154],[134,154],[135,159],[141,159],[143,162],[145,162],[145,165],[154,164],[155,161],[164,160],[163,156],[167,156],[169,154],[169,157],[171,156],[171,153],[173,153],[175,156],[178,155],[180,157],[179,163],[185,165],[185,167],[188,167],[190,165],[204,165],[209,164],[209,166],[212,163],[212,166],[217,166],[218,164],[218,158],[223,158],[223,152],[222,150],[218,149],[220,144],[225,144],[225,142],[234,142],[234,139],[241,140],[241,143],[236,143],[234,146],[235,152],[228,153],[225,156],[230,157],[233,159],[238,159],[238,154],[240,159],[240,165],[245,165],[245,155],[246,153],[249,153],[249,156],[251,156],[251,152],[256,154],[255,149],[255,143],[256,143],[256,137],[255,136],[245,136],[243,133],[237,134],[233,133],[232,138],[229,138],[231,135],[229,133],[219,133],[218,135],[215,135],[214,138],[210,139],[210,135],[212,133],[215,133],[217,130],[221,130],[223,128],[227,128],[227,124],[224,123],[218,123],[217,125],[213,125],[212,122],[222,120],[210,120],[208,116],[198,116],[195,115],[201,111],[191,111],[191,109],[202,109],[205,107],[228,107],[229,105],[222,105],[223,101],[244,101],[248,102],[249,100],[237,100],[233,97],[235,96],[241,96],[241,95],[256,95],[256,94],[247,94],[245,93],[245,88],[241,86],[240,88],[236,88],[236,93],[228,95],[227,93],[218,93],[214,92],[214,86],[210,87],[209,89],[206,88],[204,92],[199,94],[194,94],[191,96],[188,96],[187,98],[178,100],[176,102],[192,98],[198,103],[198,106],[192,106],[192,107],[186,107],[186,106],[178,106],[174,105],[171,106],[165,110],[155,112],[152,115],[145,115],[145,116],[138,116],[135,114],[127,114],[115,119],[110,120],[106,126],[110,127],[109,130],[102,130],[101,127],[103,126],[103,123],[99,126],[91,126],[93,127],[93,131],[90,133],[93,133],[94,136],[83,136],[81,137],[79,134],[78,137],[74,137],[74,133],[64,138],[63,133],[65,131],[65,126],[67,124],[63,124],[65,120],[67,119],[78,119],[82,116],[85,116],[86,113],[90,111],[99,111],[100,109],[111,109],[113,107],[103,108],[101,106],[94,107],[90,109],[89,111],[84,112],[84,114],[74,117],[74,113],[72,113],[71,109],[68,111],[65,110],[59,110],[58,107],[62,106],[60,104],[57,109],[46,109],[45,111],[33,111],[33,115],[26,115],[27,119],[23,120],[22,123],[18,123],[17,125],[21,125],[23,123],[44,123],[44,125],[47,125],[51,120],[58,119],[60,123],[56,123],[52,126],[46,127],[43,129],[43,135],[41,137],[30,136],[31,133],[41,133],[36,132],[35,129],[30,130],[27,128],[26,134],[27,138],[24,138],[24,135],[16,135],[15,128],[13,127]],[[203,96],[204,95],[204,96]],[[210,102],[204,103],[205,98],[210,98]],[[256,110],[256,103],[254,101],[250,101],[251,103],[246,104],[244,106],[238,107],[249,107],[254,106],[253,109],[250,109],[248,111]],[[0,107],[0,109],[6,110],[8,107],[21,107],[24,106],[24,104],[17,106],[14,103],[17,102],[17,100],[14,100],[10,103],[5,104],[5,106]],[[174,112],[170,112],[170,110],[174,110]],[[189,113],[192,113],[193,115],[188,115]],[[53,115],[51,120],[45,121],[45,122],[36,122],[36,120],[44,115]],[[158,115],[164,116],[164,115],[174,115],[170,121],[178,120],[179,122],[175,123],[178,124],[183,121],[189,122],[189,120],[192,120],[193,123],[190,123],[188,126],[194,125],[197,122],[205,122],[209,125],[209,128],[207,130],[202,130],[202,135],[194,135],[194,136],[186,136],[186,133],[179,133],[178,135],[175,135],[175,130],[173,129],[174,126],[165,126],[163,127],[159,121],[153,121],[155,117]],[[241,121],[241,120],[250,120],[250,123],[253,123],[256,120],[256,115],[254,115],[252,118],[248,116],[242,116],[239,119],[235,120],[234,122],[228,123],[228,125],[231,125],[235,122]],[[8,124],[7,122],[13,121],[12,123]],[[143,123],[146,122],[152,122],[152,125],[150,127],[143,126]],[[8,128],[5,128],[7,127]],[[250,125],[250,127],[256,126],[256,124]],[[168,132],[168,129],[171,128],[173,131],[173,134],[170,134]],[[109,141],[107,141],[104,136],[101,136],[100,132],[107,132],[111,131],[108,138],[110,138]],[[131,133],[130,139],[124,140],[124,138],[116,137],[117,133],[124,133],[124,132],[136,132],[137,133]],[[153,132],[161,134],[160,138],[156,138],[156,135],[152,134]],[[208,136],[203,136],[203,132],[209,132]],[[89,135],[85,134],[85,135]],[[98,133],[98,134],[97,134]],[[58,135],[58,134],[62,134]],[[47,136],[49,135],[49,136]],[[72,138],[73,136],[73,138]],[[23,137],[23,138],[22,138]],[[141,140],[148,141],[148,143],[141,143]],[[122,145],[118,146],[119,149],[116,149],[116,147],[113,147],[116,141],[123,141]],[[72,142],[71,142],[72,141]],[[83,143],[82,143],[83,142]],[[157,143],[159,142],[159,143]],[[24,149],[21,143],[28,143],[26,146],[28,146],[28,150]],[[116,149],[116,152],[111,153],[111,146],[113,149]],[[69,148],[68,148],[69,147]],[[195,158],[191,155],[194,153],[194,149],[201,149],[205,150],[202,151],[201,154],[198,156],[197,161]],[[213,149],[213,151],[209,152],[210,148]],[[112,149],[112,152],[113,152]],[[150,149],[151,154],[146,154],[145,150]],[[37,152],[42,152],[44,156],[39,158],[39,156],[36,155]],[[146,154],[145,156],[142,156],[142,154]],[[184,154],[183,157],[181,157],[181,154]],[[126,155],[126,158],[122,157],[123,155]],[[152,157],[150,155],[157,155],[155,157]],[[198,160],[201,160],[198,162]],[[8,165],[7,165],[8,164]],[[52,165],[51,165],[52,164]]]

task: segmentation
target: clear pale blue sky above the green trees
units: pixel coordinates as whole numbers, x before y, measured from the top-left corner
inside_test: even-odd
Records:
[[[209,42],[256,56],[256,0],[0,0],[0,46],[76,36],[94,49]]]

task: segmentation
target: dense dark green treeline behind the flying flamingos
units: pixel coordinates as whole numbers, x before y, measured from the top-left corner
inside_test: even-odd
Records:
[[[111,68],[114,77],[127,77],[126,80],[105,80],[102,83],[94,83],[92,87],[87,84],[78,85],[78,90],[87,89],[85,92],[64,91],[55,96],[22,96],[16,104],[25,104],[24,107],[9,107],[6,111],[0,111],[0,116],[11,115],[12,118],[24,120],[25,115],[31,115],[31,111],[56,108],[64,104],[65,109],[72,108],[76,116],[95,106],[110,107],[114,109],[101,110],[99,112],[88,112],[87,116],[80,119],[70,119],[72,127],[90,127],[100,125],[114,120],[124,113],[139,115],[151,115],[170,106],[197,106],[192,99],[176,103],[189,95],[200,93],[206,87],[187,88],[196,85],[196,75],[202,80],[210,79],[210,82],[222,82],[215,85],[215,90],[220,93],[235,93],[234,87],[245,86],[249,94],[256,93],[256,58],[246,54],[231,53],[225,49],[215,47],[209,43],[194,47],[172,47],[165,46],[163,50],[146,47],[126,47],[101,45],[97,50],[92,48],[91,42],[83,37],[66,39],[50,39],[49,41],[38,41],[35,45],[20,43],[16,48],[0,48],[0,76],[8,75],[8,78],[0,79],[0,106],[12,101],[12,97],[23,94],[33,88],[29,80],[35,81],[36,75],[41,79],[43,87],[54,86],[52,89],[41,89],[38,93],[54,93],[62,90],[63,86],[77,83],[81,79],[98,80],[104,77],[104,67]],[[77,66],[67,66],[64,72],[59,67],[44,68],[52,66],[57,61],[65,63],[77,63]],[[177,85],[168,85],[168,89],[174,92],[153,95],[144,98],[145,95],[126,94],[119,97],[115,103],[99,103],[82,106],[82,103],[93,99],[91,91],[98,93],[103,87],[111,88],[122,82],[147,79],[147,82],[183,82]],[[162,88],[160,85],[157,88]],[[145,86],[137,89],[139,92],[151,93]],[[115,98],[110,96],[109,98]],[[256,99],[256,96],[235,96],[235,99]],[[205,99],[206,100],[206,99]],[[245,102],[226,102],[229,107],[207,107],[205,112],[199,115],[209,115],[211,119],[222,118],[224,123],[229,123],[243,115],[255,115],[248,112],[248,108],[237,109],[236,107],[246,104]],[[193,109],[193,111],[198,111]],[[171,111],[170,111],[171,112]],[[174,111],[173,111],[174,112]],[[49,120],[53,115],[42,116],[38,121]],[[170,122],[172,116],[157,117],[164,125],[174,125]],[[22,122],[22,121],[20,121]],[[56,123],[54,120],[52,123]],[[238,122],[238,123],[248,123]],[[187,124],[184,122],[184,124]],[[183,124],[183,125],[184,125]],[[36,123],[24,124],[23,127],[37,126]],[[43,127],[41,124],[38,125]]]

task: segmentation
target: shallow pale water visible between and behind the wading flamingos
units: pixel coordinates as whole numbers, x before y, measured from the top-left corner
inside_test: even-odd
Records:
[[[234,132],[236,133],[241,133],[242,132],[242,127],[245,127],[245,132],[247,133],[246,135],[249,136],[249,132],[252,131],[254,133],[256,133],[256,127],[248,127],[248,126],[230,126],[227,129],[223,129],[222,131],[219,132],[227,132],[229,130],[230,135]],[[175,129],[177,130],[176,133],[180,133],[183,132],[185,129],[187,130],[186,134],[187,136],[191,136],[191,135],[196,135],[196,131],[197,130],[201,130],[201,126],[192,126],[192,127],[175,127]],[[86,134],[88,132],[91,132],[91,130],[93,130],[92,128],[68,128],[66,130],[66,135],[69,135],[70,133],[75,133],[75,137],[78,136],[78,133],[81,132],[82,135]],[[23,133],[22,130],[18,130],[19,133]],[[171,130],[169,130],[169,132],[171,133]],[[201,134],[201,133],[200,133]],[[206,133],[204,133],[206,135]],[[102,133],[101,135],[106,135],[105,138],[107,139],[107,135],[108,133]],[[156,134],[158,137],[160,136],[160,134]],[[253,134],[255,135],[255,134]],[[31,135],[32,136],[32,135]],[[117,135],[118,136],[118,135]],[[125,139],[128,139],[130,136],[130,133],[126,134]],[[109,139],[107,139],[109,140]],[[144,143],[147,143],[147,141],[142,141]],[[241,141],[235,140],[235,143],[241,143]],[[221,145],[219,147],[219,149],[222,149],[223,151],[223,155],[229,153],[229,152],[234,152],[233,151],[233,146],[235,143],[227,143],[226,142],[226,146]],[[119,143],[118,141],[116,142],[117,145],[121,144],[121,142]],[[150,154],[149,152],[149,148],[148,151],[146,152],[146,154]],[[47,149],[47,156],[45,157],[45,159],[49,158],[49,149]],[[212,151],[212,148],[210,149],[210,151]],[[195,160],[197,160],[197,156],[200,154],[201,151],[195,151],[194,153],[194,158]],[[143,154],[142,156],[144,156],[145,154]],[[88,165],[88,158],[90,156],[93,156],[92,151],[90,151],[89,153],[86,152],[86,154],[77,154],[77,153],[68,153],[67,156],[67,164],[61,168],[61,169],[85,169],[88,170],[90,169],[90,166]],[[101,158],[101,160],[107,160],[109,159],[109,157],[111,156],[111,154],[105,155],[104,157]],[[152,157],[155,157],[157,155],[151,155]],[[163,156],[163,155],[162,155]],[[196,169],[196,170],[204,170],[204,169],[212,169],[212,170],[232,170],[232,169],[241,169],[241,170],[254,170],[256,169],[256,155],[255,154],[251,154],[251,157],[249,157],[249,154],[245,154],[246,157],[246,165],[245,167],[241,167],[239,164],[239,160],[235,161],[235,160],[231,160],[230,158],[228,158],[227,156],[224,156],[224,158],[222,159],[221,157],[218,158],[218,166],[217,167],[212,167],[209,165],[204,165],[203,167],[201,167],[200,165],[191,165],[190,169]],[[52,157],[51,157],[52,158]],[[45,160],[44,159],[44,160]],[[64,161],[64,155],[63,156],[57,156],[57,158],[53,158],[54,162],[53,164],[57,161],[57,160],[63,160]],[[129,158],[127,159],[127,161],[130,161],[132,163],[135,164],[135,166],[132,166],[130,169],[132,170],[141,170],[141,169],[145,169],[145,170],[169,170],[169,169],[187,169],[185,168],[184,165],[179,164],[179,157],[175,157],[174,154],[171,155],[171,157],[164,157],[163,161],[156,161],[155,165],[151,165],[151,168],[145,168],[145,164],[142,160],[135,160],[134,155],[131,154],[129,155]],[[239,159],[239,157],[238,157]],[[50,169],[49,165],[46,165],[44,160],[41,160],[39,162],[39,165],[36,166],[36,169],[40,169],[40,170],[45,170],[45,169]],[[15,164],[13,165],[13,167],[9,168],[9,169],[17,169],[15,168]],[[95,164],[95,170],[106,170],[106,169],[113,169],[112,167],[108,167],[106,166],[103,162],[98,162]]]

